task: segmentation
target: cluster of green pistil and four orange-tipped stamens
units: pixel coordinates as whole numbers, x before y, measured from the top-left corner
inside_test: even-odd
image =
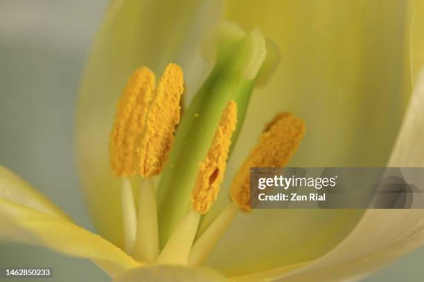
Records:
[[[205,42],[204,53],[215,67],[181,124],[184,79],[177,64],[166,67],[157,87],[150,69],[137,69],[117,104],[110,162],[123,180],[125,252],[139,261],[203,263],[236,214],[250,208],[249,168],[283,166],[303,135],[303,122],[289,113],[277,115],[238,170],[231,185],[233,203],[200,225],[218,198],[251,92],[269,76],[269,61],[276,60],[271,55],[265,62],[268,44],[257,29],[246,34],[222,23]],[[139,176],[141,187],[133,187],[132,179]]]

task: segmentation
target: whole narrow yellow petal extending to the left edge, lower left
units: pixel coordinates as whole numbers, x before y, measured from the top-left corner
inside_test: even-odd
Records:
[[[140,265],[112,243],[72,223],[4,167],[0,168],[0,238],[91,259],[112,276]]]

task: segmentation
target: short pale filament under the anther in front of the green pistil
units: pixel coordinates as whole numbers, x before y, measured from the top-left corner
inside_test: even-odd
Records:
[[[200,214],[191,210],[182,220],[166,243],[164,250],[159,254],[157,264],[177,264],[187,263],[188,255],[199,225]]]

